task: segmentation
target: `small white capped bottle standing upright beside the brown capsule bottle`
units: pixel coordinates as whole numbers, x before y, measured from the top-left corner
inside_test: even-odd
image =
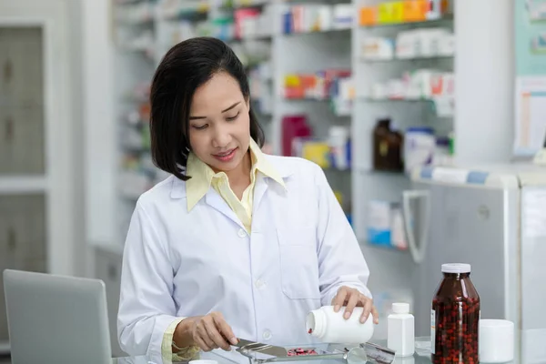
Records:
[[[410,304],[393,303],[387,319],[387,347],[396,351],[397,357],[408,357],[415,352],[415,319],[410,314]]]

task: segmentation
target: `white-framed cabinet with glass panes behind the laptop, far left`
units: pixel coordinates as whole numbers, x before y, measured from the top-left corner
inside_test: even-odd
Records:
[[[0,271],[86,273],[80,3],[0,0]]]

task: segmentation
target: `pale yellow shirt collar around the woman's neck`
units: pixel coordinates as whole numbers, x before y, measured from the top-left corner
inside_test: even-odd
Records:
[[[252,159],[250,173],[256,176],[257,171],[259,171],[286,189],[284,180],[278,173],[278,170],[269,163],[258,147],[258,144],[252,138],[250,138],[249,149]],[[186,174],[191,177],[186,181],[187,211],[191,211],[197,205],[197,202],[207,194],[214,177],[225,176],[224,172],[215,174],[211,167],[208,167],[206,163],[191,152],[187,157]]]

